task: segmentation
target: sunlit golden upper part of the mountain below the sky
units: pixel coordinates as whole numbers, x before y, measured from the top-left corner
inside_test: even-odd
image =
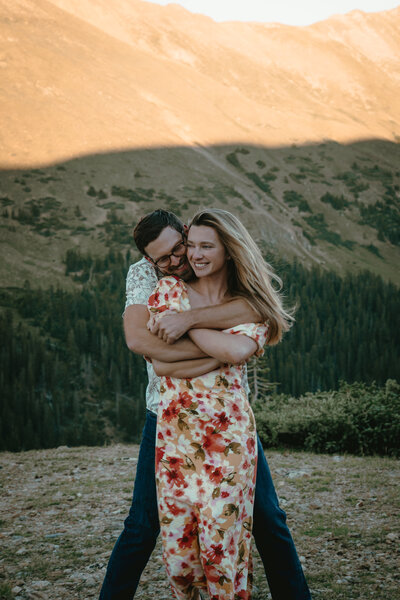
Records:
[[[163,143],[400,136],[397,9],[364,15],[361,30],[359,15],[271,29],[188,11],[179,20],[139,0],[5,4],[3,168]],[[365,48],[372,34],[376,50]]]

